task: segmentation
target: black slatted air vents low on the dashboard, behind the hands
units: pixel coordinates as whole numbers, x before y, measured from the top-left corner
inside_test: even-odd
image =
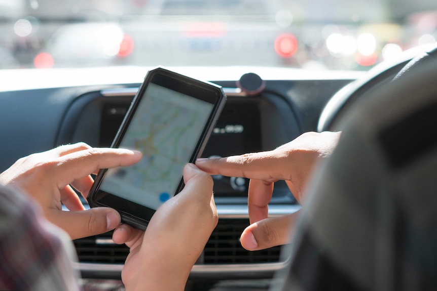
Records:
[[[249,252],[241,247],[239,237],[249,224],[247,219],[220,219],[206,243],[203,264],[270,263],[279,261],[280,247]],[[123,264],[129,254],[125,245],[112,243],[112,233],[74,241],[82,263]]]

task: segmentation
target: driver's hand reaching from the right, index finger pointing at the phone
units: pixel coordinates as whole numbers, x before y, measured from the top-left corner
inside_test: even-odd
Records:
[[[318,160],[330,156],[340,133],[305,133],[274,150],[220,158],[201,158],[199,169],[211,175],[249,178],[248,211],[250,226],[241,235],[241,244],[250,251],[289,241],[297,213],[268,218],[273,184],[284,180],[299,203],[304,201],[306,183]]]

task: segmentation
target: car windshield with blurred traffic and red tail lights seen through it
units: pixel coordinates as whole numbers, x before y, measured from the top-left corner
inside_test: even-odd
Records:
[[[436,39],[434,0],[0,0],[0,69],[368,70]]]

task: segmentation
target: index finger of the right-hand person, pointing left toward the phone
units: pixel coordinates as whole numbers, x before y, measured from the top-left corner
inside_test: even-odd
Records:
[[[289,174],[287,176],[287,171],[284,171],[287,160],[282,151],[272,150],[229,157],[200,158],[196,165],[211,175],[276,181],[289,180]]]

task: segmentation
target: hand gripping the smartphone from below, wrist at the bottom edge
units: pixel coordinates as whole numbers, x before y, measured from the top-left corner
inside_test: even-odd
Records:
[[[122,271],[129,290],[184,290],[190,271],[217,224],[212,178],[184,168],[184,190],[159,207],[145,232],[121,224],[113,240],[130,253]]]

